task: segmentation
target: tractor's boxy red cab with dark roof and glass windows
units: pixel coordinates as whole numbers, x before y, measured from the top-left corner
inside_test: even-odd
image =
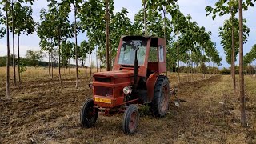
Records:
[[[137,51],[138,76],[148,77],[150,74],[166,71],[166,46],[164,39],[142,36],[124,36],[118,47],[113,70],[134,70],[135,53]]]

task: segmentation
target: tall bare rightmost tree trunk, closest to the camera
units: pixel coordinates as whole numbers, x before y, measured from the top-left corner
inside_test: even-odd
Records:
[[[246,102],[245,102],[245,87],[243,75],[243,19],[242,19],[242,0],[239,0],[239,88],[240,88],[240,109],[241,109],[241,125],[246,126]]]

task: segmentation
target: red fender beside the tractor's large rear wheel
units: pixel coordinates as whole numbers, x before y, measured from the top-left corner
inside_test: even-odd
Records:
[[[154,97],[154,85],[158,79],[158,73],[150,74],[149,78],[146,80],[146,90],[148,94],[147,102],[152,102]]]

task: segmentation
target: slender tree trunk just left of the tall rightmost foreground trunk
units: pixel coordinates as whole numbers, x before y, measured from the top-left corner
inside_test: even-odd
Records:
[[[231,55],[231,75],[233,80],[234,94],[237,94],[236,85],[235,85],[235,65],[234,65],[234,15],[232,14],[232,55]]]

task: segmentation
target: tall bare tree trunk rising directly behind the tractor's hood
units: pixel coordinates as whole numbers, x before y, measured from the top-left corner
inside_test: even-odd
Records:
[[[109,0],[106,0],[106,71],[110,71],[110,30],[109,30]]]

